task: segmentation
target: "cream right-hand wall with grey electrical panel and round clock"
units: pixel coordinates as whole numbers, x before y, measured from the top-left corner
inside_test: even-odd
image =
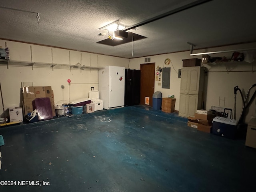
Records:
[[[194,50],[193,53],[201,52],[213,52],[222,50],[235,50],[235,49],[246,49],[246,48],[256,48],[255,43],[250,44],[240,44],[234,46],[223,46],[217,48],[210,48],[207,50]],[[174,95],[176,98],[175,110],[179,110],[179,94],[180,94],[180,78],[178,78],[178,69],[182,68],[182,60],[190,58],[200,58],[202,56],[189,56],[190,52],[177,52],[172,54],[162,54],[156,56],[147,56],[145,58],[151,58],[148,63],[156,63],[156,67],[171,67],[170,75],[170,89],[162,89],[162,86],[158,86],[158,82],[155,81],[155,92],[161,91],[163,97],[168,95]],[[221,53],[221,54],[211,54],[211,57],[223,57],[231,58],[232,52]],[[170,58],[172,63],[168,66],[164,65],[164,60]],[[140,69],[140,64],[143,64],[144,58],[133,58],[130,59],[129,67],[131,69]],[[256,83],[256,62],[253,63],[228,63],[228,64],[217,64],[214,65],[204,65],[208,72],[206,79],[208,78],[208,83],[206,84],[206,104],[205,108],[207,110],[211,109],[212,106],[221,106],[225,108],[234,109],[234,87],[238,86],[244,92],[247,92],[248,88]],[[248,72],[226,72],[228,70],[236,71],[248,71]],[[219,72],[216,72],[219,71]],[[251,96],[256,90],[254,87],[251,90]],[[245,96],[245,94],[244,94]],[[224,100],[225,99],[225,103]],[[219,105],[220,104],[220,105]],[[236,100],[236,118],[238,119],[242,110],[242,99],[240,94],[237,92]],[[250,120],[252,116],[256,116],[256,102],[255,99],[252,102],[248,110],[248,115],[246,116],[246,122]]]

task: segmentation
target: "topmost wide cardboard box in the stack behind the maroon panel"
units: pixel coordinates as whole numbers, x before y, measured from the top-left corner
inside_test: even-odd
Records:
[[[52,97],[52,87],[22,87],[22,93],[24,99]]]

